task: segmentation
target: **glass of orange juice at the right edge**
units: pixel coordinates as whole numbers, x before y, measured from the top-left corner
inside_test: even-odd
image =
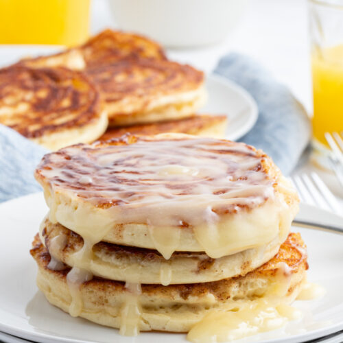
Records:
[[[309,25],[314,139],[326,144],[343,131],[343,0],[309,0]]]

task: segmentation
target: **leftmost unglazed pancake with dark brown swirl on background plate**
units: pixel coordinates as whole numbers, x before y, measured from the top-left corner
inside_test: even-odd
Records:
[[[64,68],[0,69],[0,123],[51,150],[88,143],[108,119],[93,83]]]

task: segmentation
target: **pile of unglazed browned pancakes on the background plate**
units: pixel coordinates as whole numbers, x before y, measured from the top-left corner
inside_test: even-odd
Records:
[[[51,150],[104,139],[108,127],[107,138],[123,130],[222,137],[226,116],[194,115],[205,101],[201,71],[167,60],[152,40],[109,29],[0,69],[0,123]]]

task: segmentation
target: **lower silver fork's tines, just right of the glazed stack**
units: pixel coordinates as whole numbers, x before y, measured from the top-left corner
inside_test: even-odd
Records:
[[[299,193],[301,202],[338,215],[343,214],[343,206],[314,171],[310,174],[298,174],[291,180]]]

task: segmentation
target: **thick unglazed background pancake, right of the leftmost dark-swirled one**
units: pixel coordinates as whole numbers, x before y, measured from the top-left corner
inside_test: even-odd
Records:
[[[102,94],[110,126],[189,117],[206,101],[204,74],[164,60],[120,60],[85,70]]]

